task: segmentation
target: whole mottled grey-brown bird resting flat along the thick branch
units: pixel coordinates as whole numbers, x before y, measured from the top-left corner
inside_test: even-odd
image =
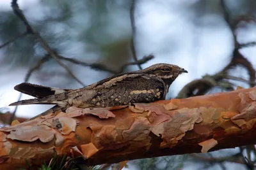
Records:
[[[37,97],[10,104],[56,104],[52,111],[69,106],[78,108],[105,108],[132,103],[150,103],[165,99],[172,82],[183,68],[172,64],[154,64],[150,67],[130,73],[116,74],[81,89],[58,89],[21,83],[15,90]]]

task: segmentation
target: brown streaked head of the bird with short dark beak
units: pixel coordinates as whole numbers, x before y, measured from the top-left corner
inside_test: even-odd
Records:
[[[154,64],[141,70],[141,72],[148,74],[149,76],[157,76],[164,82],[170,84],[179,76],[179,74],[188,73],[184,68],[165,63]]]

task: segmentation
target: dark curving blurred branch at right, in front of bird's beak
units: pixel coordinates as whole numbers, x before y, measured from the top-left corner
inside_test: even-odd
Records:
[[[188,83],[186,86],[183,87],[182,90],[180,90],[179,94],[177,95],[177,98],[204,95],[206,92],[212,89],[212,87],[216,87],[216,86],[223,87],[223,89],[232,90],[231,88],[232,84],[228,83],[227,81],[224,81],[223,79],[243,81],[243,82],[249,83],[250,87],[255,86],[256,71],[253,68],[252,63],[248,61],[241,54],[241,52],[239,52],[239,49],[246,46],[250,46],[250,45],[256,45],[256,43],[251,42],[246,44],[239,44],[237,42],[237,38],[235,34],[236,25],[239,22],[241,22],[241,20],[239,20],[239,22],[237,21],[234,22],[234,20],[232,20],[230,16],[230,13],[228,11],[227,5],[225,4],[225,1],[221,0],[220,4],[223,10],[224,18],[228,24],[228,27],[230,27],[230,31],[232,32],[233,39],[234,39],[234,50],[232,53],[232,59],[227,64],[227,66],[225,66],[219,73],[213,74],[211,76],[207,75],[201,79],[193,80],[190,83]],[[233,69],[236,66],[244,67],[248,71],[250,80],[243,80],[243,78],[235,78],[234,76],[229,76],[228,71],[230,71],[230,69]]]

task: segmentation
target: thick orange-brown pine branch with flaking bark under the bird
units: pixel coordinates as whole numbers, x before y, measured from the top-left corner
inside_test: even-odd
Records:
[[[1,128],[0,169],[38,166],[54,150],[96,165],[256,143],[256,87],[66,112]]]

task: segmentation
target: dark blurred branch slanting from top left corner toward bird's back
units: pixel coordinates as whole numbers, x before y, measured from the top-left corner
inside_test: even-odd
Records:
[[[56,62],[58,62],[58,64],[60,64],[60,66],[63,67],[68,72],[68,74],[72,76],[72,78],[74,78],[74,80],[79,82],[81,85],[85,86],[84,83],[81,82],[78,78],[76,78],[76,76],[72,73],[72,71],[70,71],[70,69],[63,62],[61,62],[61,60],[58,57],[58,54],[51,49],[51,47],[46,43],[45,39],[43,39],[40,36],[40,34],[36,32],[35,29],[33,29],[33,27],[31,27],[27,18],[24,16],[22,11],[20,10],[19,5],[17,4],[17,0],[12,1],[12,9],[13,9],[13,13],[15,13],[15,15],[17,15],[17,17],[19,17],[20,20],[22,20],[24,25],[26,25],[27,31],[33,34],[36,39],[38,39],[38,42],[40,43],[40,45],[51,55],[51,57],[55,59]]]

